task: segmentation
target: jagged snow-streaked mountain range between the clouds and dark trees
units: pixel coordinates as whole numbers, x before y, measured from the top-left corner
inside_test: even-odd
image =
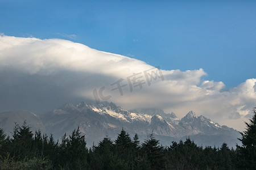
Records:
[[[28,112],[0,113],[0,125],[4,130],[7,124],[11,124],[10,121],[5,121],[6,117],[13,121],[29,120],[33,122],[30,126],[40,128],[47,134],[52,133],[56,139],[60,139],[64,133],[71,134],[79,127],[89,146],[92,146],[93,142],[101,141],[106,135],[115,139],[122,128],[131,137],[137,133],[141,142],[154,133],[164,146],[188,137],[197,145],[203,146],[220,146],[226,142],[234,147],[236,143],[240,143],[237,139],[240,133],[237,130],[220,126],[204,116],[196,116],[192,111],[179,120],[175,113],[164,113],[162,109],[141,108],[127,111],[112,102],[81,102],[77,105],[67,103],[40,117]]]

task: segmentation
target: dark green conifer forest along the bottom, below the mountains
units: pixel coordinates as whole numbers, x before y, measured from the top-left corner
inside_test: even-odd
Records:
[[[197,146],[189,138],[161,146],[154,134],[141,142],[123,129],[115,141],[105,137],[87,148],[79,128],[55,141],[52,134],[33,133],[24,121],[11,137],[0,129],[0,169],[255,169],[255,111],[245,124],[236,148]]]

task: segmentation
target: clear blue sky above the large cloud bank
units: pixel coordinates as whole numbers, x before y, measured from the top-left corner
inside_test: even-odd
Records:
[[[256,1],[0,1],[0,32],[60,38],[236,87],[256,73]]]

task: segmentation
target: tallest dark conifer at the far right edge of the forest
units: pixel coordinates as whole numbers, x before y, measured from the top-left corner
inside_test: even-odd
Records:
[[[242,146],[237,146],[239,163],[238,166],[244,169],[255,169],[256,167],[256,108],[254,115],[249,119],[249,123],[245,122],[246,130],[241,132]]]

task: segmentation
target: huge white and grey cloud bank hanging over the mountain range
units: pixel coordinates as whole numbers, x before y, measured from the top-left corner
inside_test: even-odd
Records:
[[[222,82],[202,81],[205,75],[203,69],[158,70],[138,59],[67,40],[0,36],[2,111],[42,113],[67,101],[95,101],[95,95],[103,101],[104,95],[126,109],[158,107],[178,117],[193,110],[243,129],[255,107],[256,79],[224,91]]]

